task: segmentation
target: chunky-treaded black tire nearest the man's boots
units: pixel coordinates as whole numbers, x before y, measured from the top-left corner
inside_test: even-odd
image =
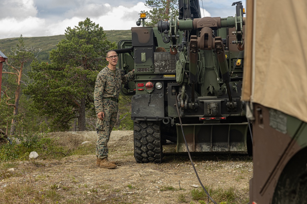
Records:
[[[161,163],[160,121],[134,121],[134,158],[137,163]]]

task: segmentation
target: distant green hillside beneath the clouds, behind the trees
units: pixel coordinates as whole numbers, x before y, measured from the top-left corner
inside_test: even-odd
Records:
[[[130,40],[131,30],[111,30],[104,31],[107,35],[107,39],[111,42],[118,42],[119,40]],[[52,49],[56,49],[56,45],[61,39],[64,39],[65,35],[55,35],[46,37],[24,37],[25,45],[34,46],[37,48],[42,48],[40,54],[38,55],[39,61],[49,61],[49,52]],[[0,51],[2,51],[6,56],[11,54],[10,48],[16,47],[18,43],[18,38],[7,38],[0,39]]]

